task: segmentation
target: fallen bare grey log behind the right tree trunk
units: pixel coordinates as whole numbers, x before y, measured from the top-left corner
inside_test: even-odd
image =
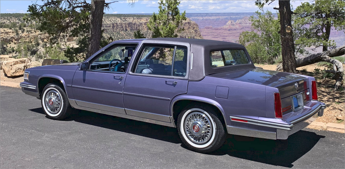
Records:
[[[345,52],[345,46],[338,47],[335,49],[329,49],[320,53],[312,54],[303,58],[296,59],[296,68],[306,65],[311,65],[317,62],[328,62],[333,64],[333,71],[327,70],[327,72],[333,73],[335,77],[335,87],[334,90],[337,91],[338,87],[341,86],[344,74],[343,63],[337,59],[332,59],[332,57],[342,56]],[[283,70],[283,63],[280,63],[276,71]]]

